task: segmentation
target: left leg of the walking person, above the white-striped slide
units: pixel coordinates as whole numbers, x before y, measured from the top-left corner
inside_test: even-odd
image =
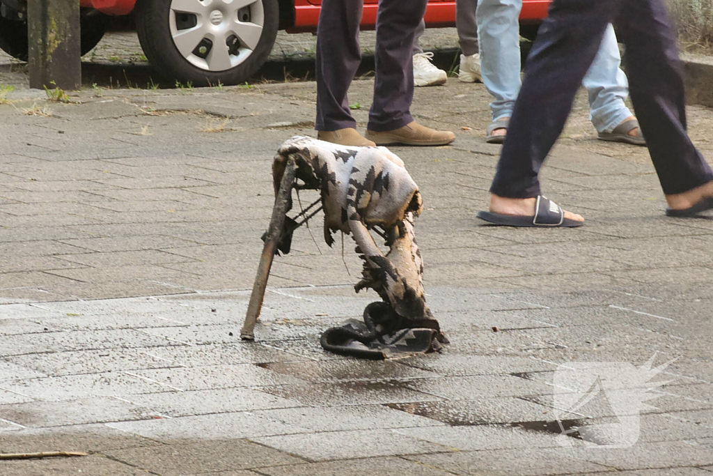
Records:
[[[493,196],[530,198],[534,208],[534,198],[540,195],[540,167],[564,127],[620,1],[555,0],[550,7],[530,51],[491,186]]]

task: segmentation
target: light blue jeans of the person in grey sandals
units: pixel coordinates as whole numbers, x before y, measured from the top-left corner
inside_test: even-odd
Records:
[[[471,0],[475,3],[475,0]],[[522,0],[478,0],[476,21],[481,74],[493,96],[493,121],[511,117],[520,92],[520,28]],[[599,52],[582,81],[589,92],[590,119],[599,132],[611,132],[633,116],[625,105],[629,82],[620,69],[614,28],[609,25]],[[563,71],[562,74],[567,74]]]

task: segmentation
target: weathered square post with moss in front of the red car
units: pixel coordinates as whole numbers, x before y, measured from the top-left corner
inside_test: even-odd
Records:
[[[28,1],[27,23],[30,87],[80,88],[79,0]]]

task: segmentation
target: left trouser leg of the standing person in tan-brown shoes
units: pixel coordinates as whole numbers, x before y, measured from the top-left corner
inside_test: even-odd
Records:
[[[354,128],[347,91],[361,62],[360,0],[324,0],[317,26],[317,131]]]

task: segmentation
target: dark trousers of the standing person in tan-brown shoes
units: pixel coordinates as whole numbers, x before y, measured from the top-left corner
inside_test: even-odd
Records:
[[[361,62],[359,24],[364,0],[322,0],[317,26],[317,131],[354,127],[347,91]],[[414,99],[413,46],[428,0],[380,0],[376,16],[376,77],[371,131],[410,123]]]

